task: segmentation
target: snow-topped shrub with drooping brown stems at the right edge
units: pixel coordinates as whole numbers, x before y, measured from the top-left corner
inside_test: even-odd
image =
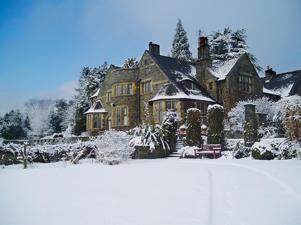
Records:
[[[273,121],[282,123],[288,140],[301,138],[301,97],[292,95],[282,98],[276,103],[275,109]]]

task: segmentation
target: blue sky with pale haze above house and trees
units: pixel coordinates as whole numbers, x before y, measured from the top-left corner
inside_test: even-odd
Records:
[[[71,99],[83,66],[121,66],[151,40],[171,49],[177,19],[197,56],[196,32],[247,28],[265,69],[300,69],[301,1],[0,2],[0,115],[29,98]]]

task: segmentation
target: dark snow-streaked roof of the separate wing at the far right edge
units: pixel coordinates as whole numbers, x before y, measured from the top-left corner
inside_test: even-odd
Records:
[[[279,93],[281,97],[289,96],[293,91],[293,85],[301,76],[301,70],[273,75],[269,82],[263,83],[264,87]]]

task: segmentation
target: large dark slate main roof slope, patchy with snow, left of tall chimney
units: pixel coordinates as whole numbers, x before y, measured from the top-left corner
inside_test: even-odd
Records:
[[[169,79],[174,80],[176,82],[181,82],[185,79],[189,79],[196,82],[196,79],[194,79],[195,75],[197,74],[195,63],[171,58],[164,55],[156,55],[149,51],[147,52],[154,59],[154,61],[156,61],[157,64],[163,69],[163,71],[167,74]]]

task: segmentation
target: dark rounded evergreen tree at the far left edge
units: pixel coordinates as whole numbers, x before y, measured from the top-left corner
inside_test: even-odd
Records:
[[[0,136],[8,140],[16,140],[26,137],[23,128],[23,116],[20,110],[11,110],[0,119]]]

